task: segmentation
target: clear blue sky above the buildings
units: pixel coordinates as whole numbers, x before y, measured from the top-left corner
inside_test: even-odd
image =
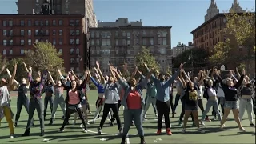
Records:
[[[210,0],[93,0],[97,19],[114,22],[117,18],[129,21],[142,19],[144,26],[173,26],[171,44],[187,45],[190,32],[204,22]],[[0,0],[0,14],[16,14],[15,0]],[[220,12],[229,10],[233,0],[215,0]],[[238,0],[243,9],[255,10],[254,0]]]

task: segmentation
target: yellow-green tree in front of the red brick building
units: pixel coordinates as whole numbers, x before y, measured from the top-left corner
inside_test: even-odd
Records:
[[[57,68],[64,70],[64,61],[60,56],[50,42],[37,42],[34,44],[34,50],[26,53],[24,62],[27,66],[32,66],[33,74],[37,74],[38,70],[50,70],[53,76],[56,76]]]

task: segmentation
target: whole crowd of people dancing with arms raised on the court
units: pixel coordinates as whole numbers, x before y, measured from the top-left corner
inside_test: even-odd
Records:
[[[197,77],[192,77],[190,73],[186,74],[183,64],[173,75],[170,75],[166,72],[158,72],[158,70],[154,70],[154,68],[150,68],[146,63],[143,63],[144,73],[135,66],[134,72],[125,78],[124,75],[129,74],[127,65],[124,65],[124,70],[122,70],[126,74],[122,74],[121,70],[110,64],[110,75],[103,76],[99,63],[96,62],[94,75],[86,70],[82,78],[78,78],[71,70],[65,78],[61,70],[57,69],[58,79],[54,81],[48,70],[38,72],[38,74],[34,74],[37,76],[32,78],[32,67],[27,67],[24,62],[23,65],[28,74],[28,81],[27,78],[22,78],[21,82],[15,80],[17,64],[14,65],[12,74],[5,66],[1,70],[1,73],[6,72],[9,78],[2,78],[0,82],[0,122],[2,118],[6,117],[10,128],[10,138],[14,138],[14,127],[18,126],[22,106],[25,107],[29,115],[26,131],[22,136],[30,135],[30,127],[34,126],[35,110],[38,112],[40,122],[40,136],[44,136],[48,103],[50,103],[51,110],[49,125],[54,125],[55,114],[59,105],[62,109],[62,119],[64,121],[58,132],[64,131],[65,126],[69,124],[71,114],[74,114],[74,122],[79,116],[82,121],[83,132],[86,133],[88,131],[87,126],[90,124],[87,116],[88,111],[90,113],[87,96],[90,82],[93,82],[98,89],[97,109],[91,123],[99,118],[103,108],[98,134],[102,134],[106,118],[109,118],[110,126],[113,126],[114,121],[117,122],[118,133],[122,135],[122,144],[126,143],[130,126],[136,126],[141,143],[146,143],[143,122],[146,122],[146,113],[151,104],[158,118],[156,134],[162,134],[162,123],[165,123],[166,134],[172,135],[170,117],[175,117],[179,100],[182,102],[179,125],[183,127],[182,133],[184,134],[190,116],[193,124],[198,128],[198,132],[204,133],[205,131],[200,126],[204,126],[205,121],[211,121],[207,115],[211,107],[213,107],[213,119],[218,118],[220,121],[219,130],[224,130],[230,110],[234,114],[234,120],[237,122],[239,130],[246,131],[241,124],[245,110],[247,110],[250,126],[254,126],[255,80],[250,80],[245,70],[242,70],[241,75],[238,70],[236,70],[237,74],[230,70],[227,78],[222,79],[221,71],[214,67],[212,70],[200,70]],[[173,103],[174,85],[177,94]],[[12,120],[14,114],[10,106],[10,91],[13,90],[14,86],[18,87],[15,122]],[[142,94],[144,89],[146,89],[145,97]],[[64,97],[64,90],[66,90],[66,97]],[[28,98],[28,92],[30,92],[30,99]],[[42,94],[45,94],[44,99],[42,99]],[[206,109],[204,109],[202,98],[207,99]],[[124,126],[122,126],[119,117],[120,106],[123,106],[124,109]],[[202,110],[202,118],[198,118],[198,107]],[[172,111],[171,116],[170,110]]]

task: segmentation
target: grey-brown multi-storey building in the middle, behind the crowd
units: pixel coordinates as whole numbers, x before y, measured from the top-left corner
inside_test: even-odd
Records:
[[[114,66],[126,62],[133,69],[135,56],[146,46],[164,71],[172,67],[170,29],[171,26],[142,26],[142,21],[128,22],[128,18],[98,22],[98,28],[90,28],[90,66],[99,61],[104,74],[110,74],[108,62]]]

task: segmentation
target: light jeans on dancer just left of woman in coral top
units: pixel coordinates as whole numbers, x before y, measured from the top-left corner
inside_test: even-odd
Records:
[[[61,106],[61,109],[62,109],[62,113],[63,115],[66,114],[66,104],[65,104],[65,100],[63,98],[63,95],[60,96],[60,97],[57,97],[55,96],[54,97],[54,103],[53,103],[53,109],[52,109],[52,112],[51,112],[51,118],[54,119],[55,118],[55,114],[56,114],[56,111],[58,109],[58,105]]]

